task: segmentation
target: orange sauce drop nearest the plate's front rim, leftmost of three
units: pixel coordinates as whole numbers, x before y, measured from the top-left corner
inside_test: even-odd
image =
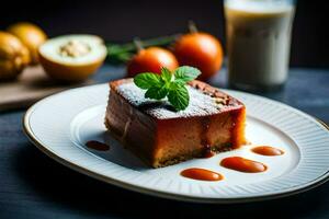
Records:
[[[198,181],[220,181],[223,175],[219,173],[208,171],[200,168],[191,168],[183,170],[181,175],[188,178],[198,180]]]

